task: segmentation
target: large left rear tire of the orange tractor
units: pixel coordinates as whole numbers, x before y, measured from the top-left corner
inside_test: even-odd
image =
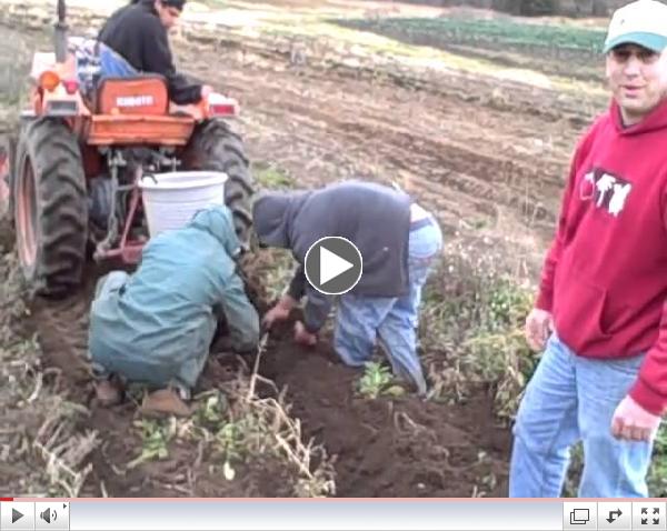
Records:
[[[64,297],[78,288],[88,239],[86,174],[77,138],[61,120],[40,118],[24,128],[13,209],[29,287],[44,297]]]

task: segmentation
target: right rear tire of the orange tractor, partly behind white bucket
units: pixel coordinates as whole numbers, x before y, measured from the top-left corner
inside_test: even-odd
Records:
[[[207,120],[195,129],[182,159],[188,171],[227,173],[225,202],[233,214],[241,247],[247,250],[252,227],[251,201],[255,187],[241,138],[222,120]]]

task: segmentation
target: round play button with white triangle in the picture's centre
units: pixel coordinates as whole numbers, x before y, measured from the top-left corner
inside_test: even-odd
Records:
[[[306,253],[306,278],[320,293],[340,295],[361,278],[364,260],[351,241],[331,236],[316,241]]]

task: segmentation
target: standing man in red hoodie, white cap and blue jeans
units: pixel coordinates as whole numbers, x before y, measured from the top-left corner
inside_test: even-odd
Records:
[[[510,497],[646,497],[667,405],[667,6],[614,13],[613,100],[580,140],[526,337],[545,349],[514,428]]]

